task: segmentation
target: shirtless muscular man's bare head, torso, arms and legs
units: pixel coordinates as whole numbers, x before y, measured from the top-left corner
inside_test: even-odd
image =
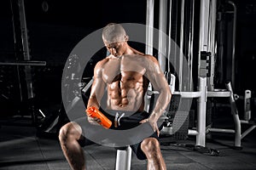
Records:
[[[125,30],[119,24],[108,24],[102,31],[103,42],[110,55],[99,61],[94,70],[94,82],[91,87],[87,107],[101,109],[101,99],[107,88],[107,111],[133,112],[120,121],[120,129],[135,127],[148,122],[154,133],[138,144],[131,145],[139,159],[147,159],[148,169],[165,170],[166,164],[160,152],[157,122],[171,99],[171,91],[160,65],[154,56],[143,54],[128,45]],[[154,110],[151,114],[144,110],[144,95],[151,82],[154,90],[159,91]],[[108,115],[113,121],[114,116]],[[88,116],[92,127],[100,120]],[[116,123],[111,128],[119,129]],[[132,125],[133,124],[133,125]],[[131,126],[130,126],[131,125]],[[79,122],[68,122],[61,127],[59,139],[67,161],[73,169],[85,169],[84,150],[81,147],[84,135],[89,131]]]

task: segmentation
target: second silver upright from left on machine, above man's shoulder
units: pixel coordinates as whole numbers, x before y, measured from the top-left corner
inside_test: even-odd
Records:
[[[159,43],[158,60],[162,71],[166,71],[166,26],[167,26],[167,1],[160,0],[159,8]]]

